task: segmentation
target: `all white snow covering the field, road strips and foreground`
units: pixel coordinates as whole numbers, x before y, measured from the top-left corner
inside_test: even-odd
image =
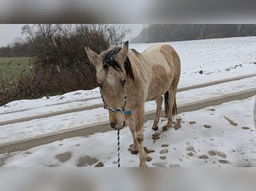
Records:
[[[170,42],[181,59],[178,88],[256,73],[256,37]],[[130,44],[143,52],[151,44]],[[203,74],[199,71],[203,70]],[[177,105],[255,88],[256,77],[177,93]],[[144,146],[150,149],[148,166],[256,166],[256,132],[253,119],[255,96],[198,111],[184,112],[180,128],[161,132],[152,139],[153,121],[144,125]],[[17,100],[0,107],[0,124],[15,119],[102,104],[99,89],[76,91],[35,100]],[[155,102],[145,103],[153,112]],[[211,109],[211,110],[210,110]],[[233,124],[226,119],[232,119]],[[192,122],[193,121],[193,122]],[[0,146],[37,136],[86,128],[108,122],[103,107],[0,125]],[[190,123],[193,124],[190,124]],[[231,122],[232,123],[232,122]],[[237,123],[236,125],[234,125]],[[209,126],[208,126],[209,125]],[[206,127],[210,128],[206,128]],[[0,155],[2,166],[117,166],[117,131],[74,137],[22,152]],[[129,128],[120,131],[121,166],[138,166],[138,155],[128,151],[132,143]],[[166,146],[166,147],[164,147]],[[153,152],[154,151],[154,152]],[[1,159],[2,158],[2,159]]]

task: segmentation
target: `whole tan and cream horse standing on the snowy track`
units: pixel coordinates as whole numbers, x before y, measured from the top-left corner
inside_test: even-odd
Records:
[[[177,114],[175,96],[180,76],[178,54],[166,44],[153,45],[138,53],[128,49],[128,41],[123,47],[111,47],[100,55],[87,46],[86,52],[96,67],[96,78],[104,108],[109,109],[111,127],[122,129],[125,120],[128,122],[133,137],[132,154],[139,151],[139,166],[147,166],[143,148],[144,103],[156,101],[152,129],[157,130],[162,95],[165,95],[166,129],[172,128],[172,117]],[[131,113],[125,115],[124,111],[128,110]]]

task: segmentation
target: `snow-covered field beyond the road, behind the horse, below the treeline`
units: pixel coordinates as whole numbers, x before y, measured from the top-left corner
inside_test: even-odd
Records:
[[[253,64],[256,61],[256,37],[180,41],[167,44],[171,45],[180,57],[179,88],[256,72]],[[150,45],[152,44],[131,44],[129,48],[143,52]],[[203,70],[204,75],[198,75],[200,70]]]

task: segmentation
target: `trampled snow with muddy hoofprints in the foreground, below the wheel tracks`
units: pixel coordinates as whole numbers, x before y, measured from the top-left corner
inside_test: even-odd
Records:
[[[148,166],[256,166],[256,131],[253,122],[255,96],[219,106],[182,113],[181,127],[162,132],[153,140],[153,121],[144,125],[144,146],[154,152]],[[211,109],[211,110],[210,110]],[[232,119],[232,125],[224,117]],[[195,124],[189,124],[194,121]],[[166,124],[161,118],[159,129]],[[204,125],[210,125],[206,128]],[[208,126],[207,126],[208,127]],[[120,131],[120,164],[138,166],[138,155],[132,155],[132,136],[128,127]],[[166,146],[166,147],[163,147]],[[32,149],[2,154],[8,157],[4,166],[117,166],[117,131],[74,137]],[[161,158],[162,159],[161,159]]]

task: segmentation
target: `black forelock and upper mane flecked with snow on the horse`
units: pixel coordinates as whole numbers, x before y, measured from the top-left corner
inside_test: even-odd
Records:
[[[108,74],[109,67],[113,67],[118,72],[124,72],[122,70],[122,67],[118,64],[118,62],[116,61],[116,58],[115,58],[115,56],[121,51],[121,49],[122,49],[122,47],[114,47],[110,50],[107,50],[107,51],[101,53],[102,65],[103,65],[103,69],[106,72],[106,74]],[[124,69],[125,69],[125,72],[126,72],[126,75],[128,76],[128,78],[133,79],[131,62],[130,62],[128,56],[126,56],[126,59],[124,62]]]

